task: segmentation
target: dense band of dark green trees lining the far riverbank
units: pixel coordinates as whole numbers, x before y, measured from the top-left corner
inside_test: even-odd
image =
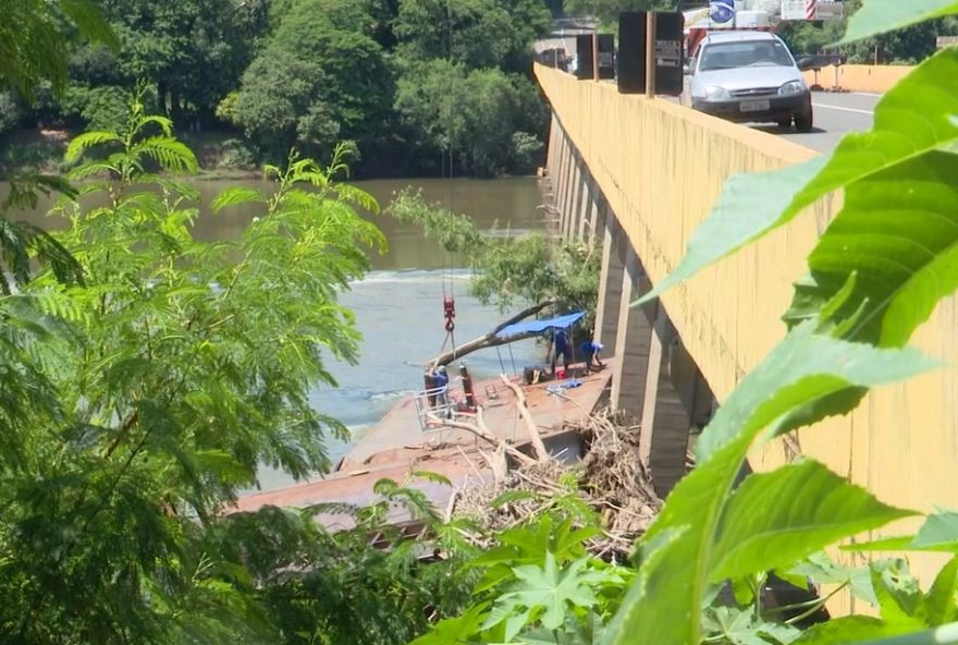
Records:
[[[94,5],[111,37],[61,51],[56,77],[28,95],[0,92],[2,147],[17,149],[0,159],[8,171],[28,165],[32,147],[10,133],[34,131],[34,160],[56,168],[44,143],[59,151],[70,133],[119,126],[139,85],[151,112],[222,167],[282,163],[294,146],[329,160],[345,142],[365,178],[529,173],[539,162],[546,112],[531,42],[551,28],[542,0]]]

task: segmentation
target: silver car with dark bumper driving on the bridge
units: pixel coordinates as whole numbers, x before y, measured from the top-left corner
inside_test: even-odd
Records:
[[[812,129],[812,99],[801,70],[778,36],[760,31],[710,32],[686,66],[683,102],[736,122]]]

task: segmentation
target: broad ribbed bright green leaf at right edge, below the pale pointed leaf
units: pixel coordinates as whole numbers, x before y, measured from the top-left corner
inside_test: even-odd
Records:
[[[901,346],[958,288],[958,187],[948,179],[956,173],[958,155],[930,153],[846,187],[809,267],[820,300],[859,273],[846,305],[861,311],[855,338]]]

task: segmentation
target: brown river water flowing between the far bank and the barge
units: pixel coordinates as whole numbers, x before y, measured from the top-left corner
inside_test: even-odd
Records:
[[[205,180],[195,182],[201,204],[209,202],[225,188],[237,185],[259,185],[257,180]],[[372,194],[381,206],[389,204],[392,194],[406,186],[422,188],[429,202],[439,202],[472,217],[482,228],[508,228],[514,233],[544,229],[543,211],[537,208],[545,200],[543,185],[535,178],[498,180],[372,180],[355,182]],[[0,182],[0,195],[8,187]],[[51,202],[40,204],[36,212],[14,214],[13,219],[60,226],[46,218]],[[205,240],[235,239],[246,223],[261,215],[256,205],[232,207],[231,216],[206,217],[197,220],[197,236]],[[374,425],[402,397],[421,388],[422,365],[437,355],[445,339],[443,329],[443,285],[452,289],[456,299],[456,340],[464,342],[486,333],[511,313],[501,315],[494,307],[483,307],[467,295],[468,271],[447,267],[460,261],[441,251],[420,231],[388,216],[367,214],[385,234],[389,251],[384,255],[370,254],[371,271],[366,279],[354,282],[341,302],[356,313],[356,324],[364,343],[357,365],[331,363],[330,370],[339,381],[337,388],[322,387],[311,394],[314,405],[346,424],[353,431],[353,441]],[[494,376],[504,367],[541,360],[541,350],[533,341],[524,341],[496,353],[486,350],[471,354],[467,363],[477,377]],[[329,451],[335,462],[345,454],[353,441],[330,442]],[[262,489],[291,483],[283,473],[263,468]]]

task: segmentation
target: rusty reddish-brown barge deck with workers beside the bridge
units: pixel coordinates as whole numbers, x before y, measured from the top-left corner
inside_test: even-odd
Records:
[[[560,393],[550,392],[550,387],[568,385],[572,379],[520,386],[539,435],[550,452],[565,451],[574,455],[577,439],[564,426],[585,422],[604,405],[614,362],[614,357],[609,358],[605,369],[575,378],[578,387],[563,388]],[[582,372],[581,368],[573,369],[573,374]],[[513,391],[499,378],[477,381],[475,391],[486,425],[495,438],[527,450],[529,430]],[[470,417],[465,415],[460,421],[469,422]],[[335,472],[315,480],[247,495],[233,510],[255,511],[266,506],[306,508],[327,503],[368,506],[377,501],[372,489],[382,478],[421,490],[442,510],[449,504],[454,489],[492,482],[492,472],[480,450],[489,452],[493,448],[489,441],[464,429],[438,426],[423,431],[415,398],[407,397],[369,429]],[[417,471],[440,474],[452,483],[452,488],[413,477]],[[390,518],[396,523],[407,519],[402,510],[394,511],[394,516]],[[331,530],[353,525],[352,516],[345,513],[319,512],[317,521]]]

